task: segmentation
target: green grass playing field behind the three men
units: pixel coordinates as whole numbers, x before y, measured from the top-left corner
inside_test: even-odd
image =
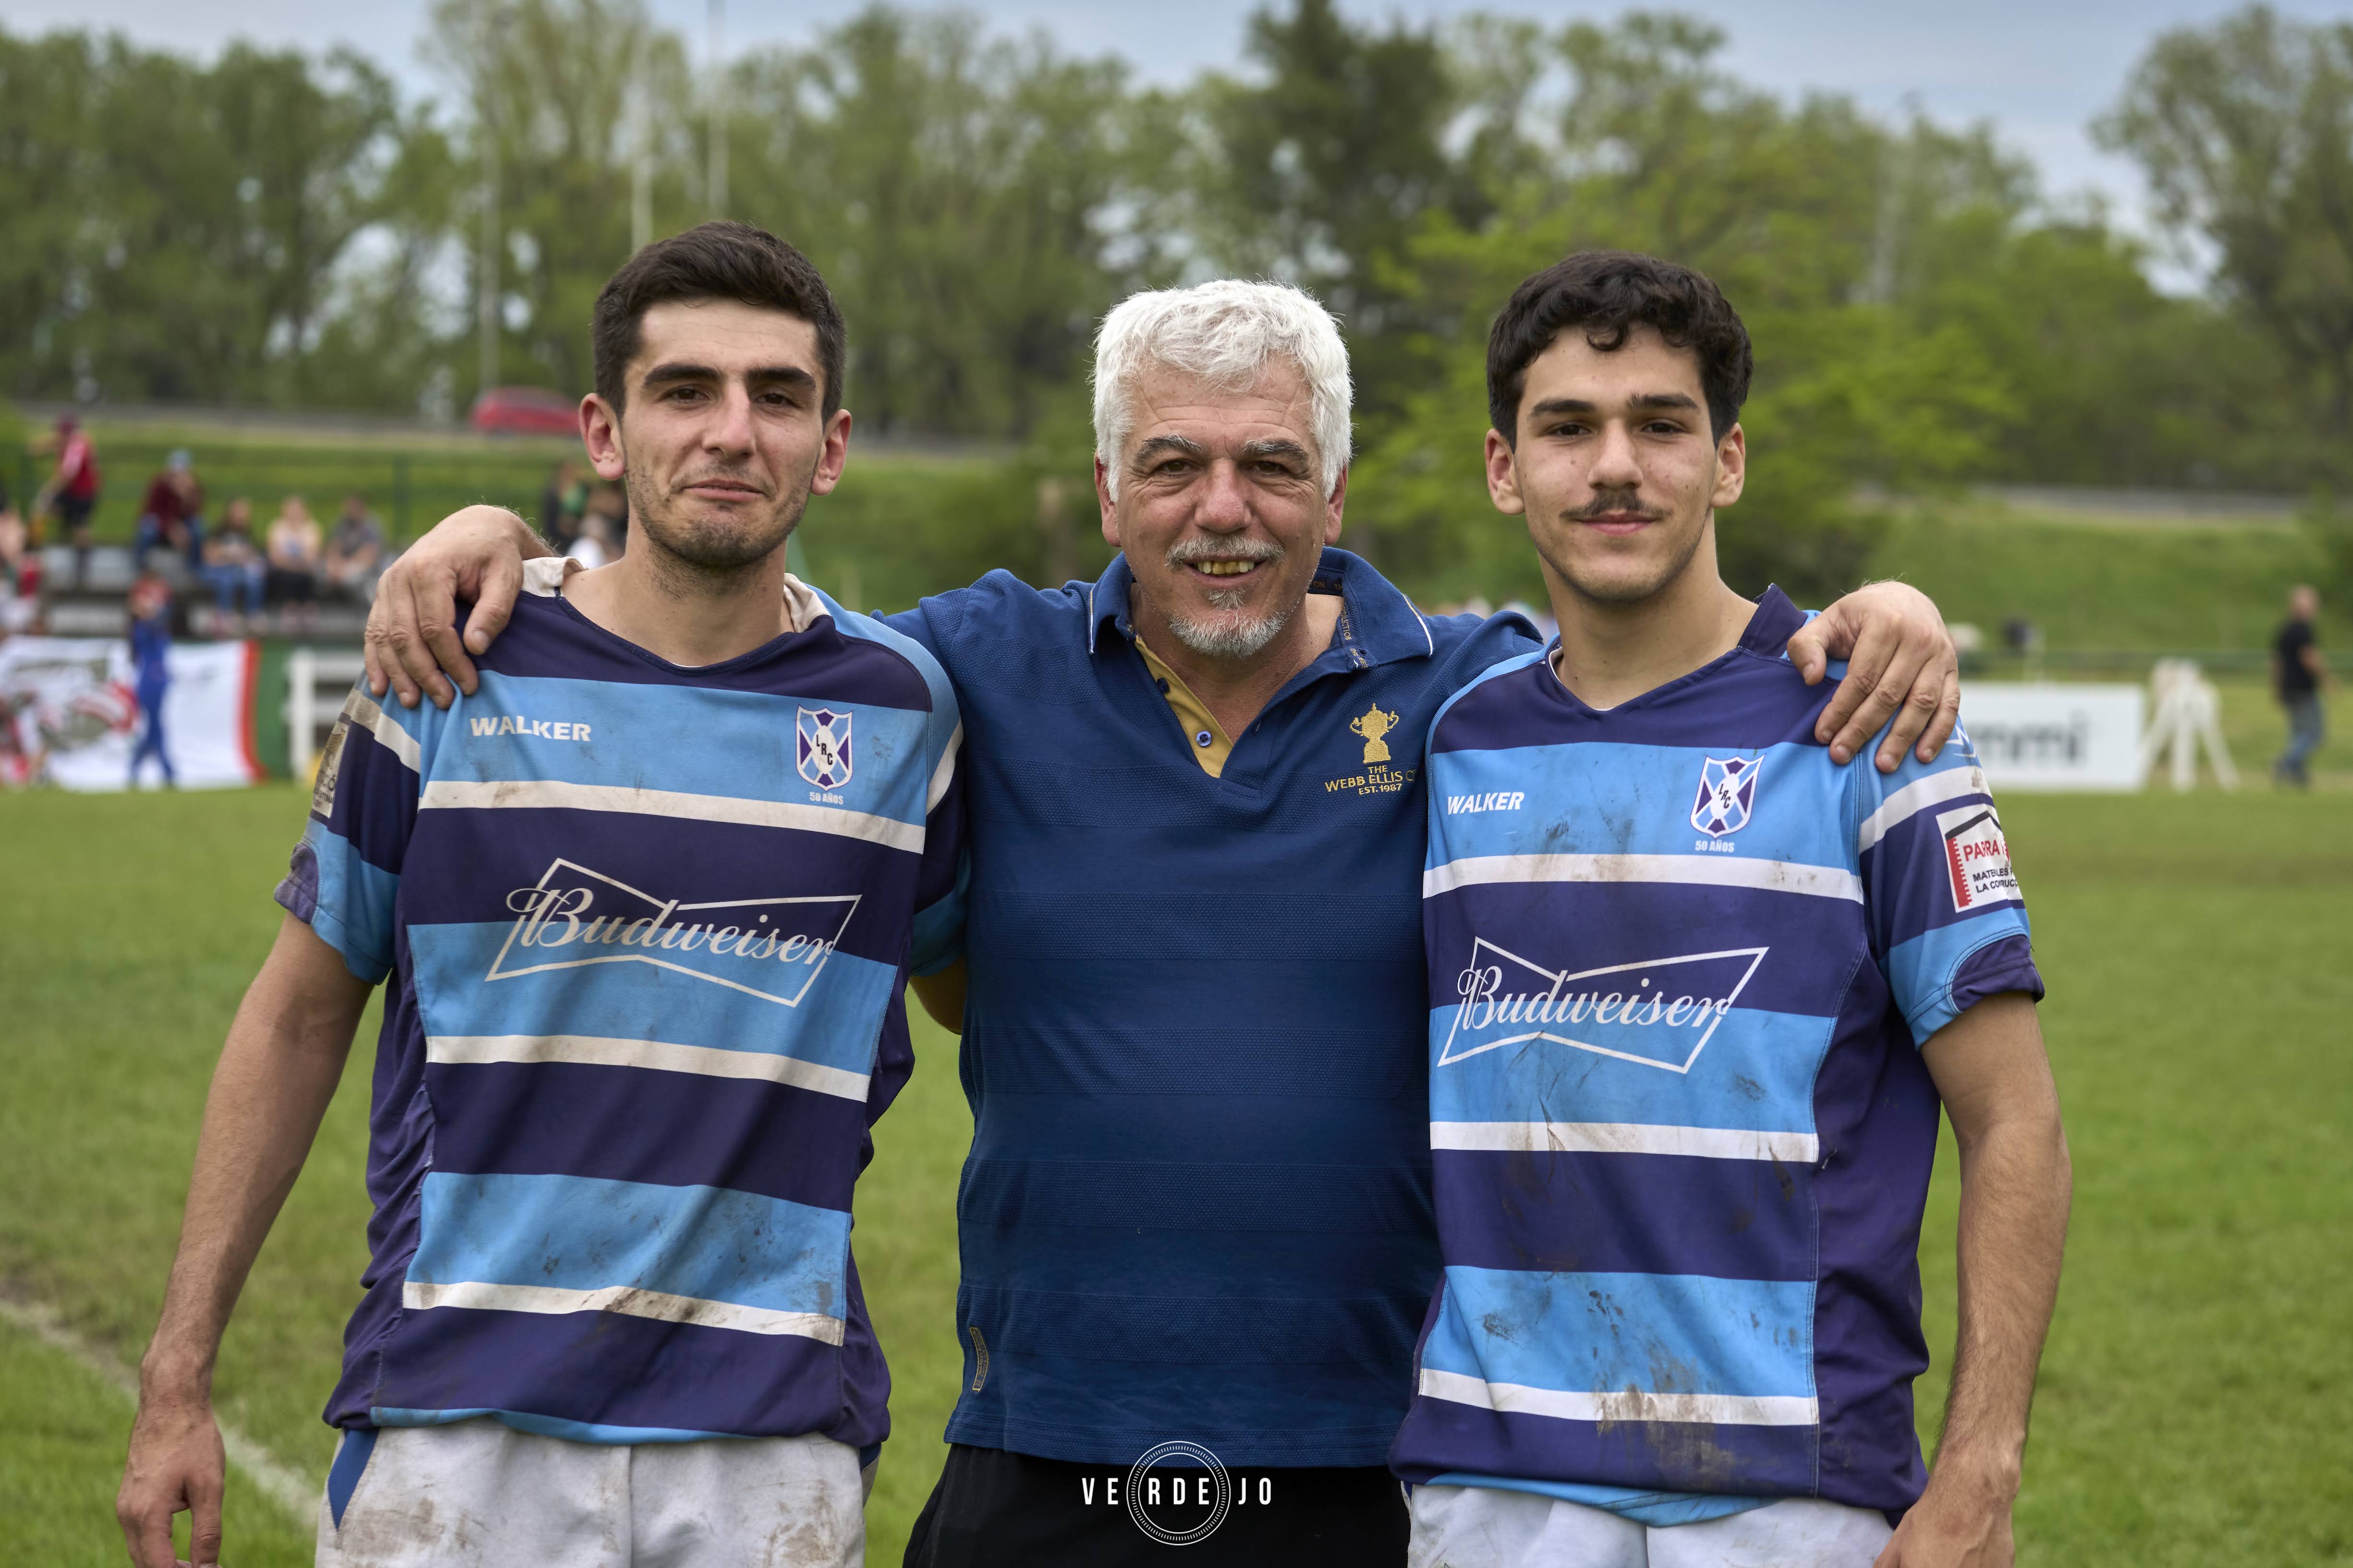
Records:
[[[2052,999],[2075,1232],[2019,1533],[2080,1568],[2353,1561],[2353,825],[2339,792],[2007,804]],[[0,797],[0,1291],[134,1361],[179,1225],[221,1030],[268,947],[292,790]],[[362,1039],[374,1037],[369,1020]],[[960,1354],[953,1041],[878,1128],[859,1258],[896,1378],[871,1559],[896,1563]],[[355,1295],[367,1044],[221,1356],[219,1403],[322,1476],[318,1408]],[[1922,1258],[1951,1345],[1951,1150]],[[1939,1373],[1922,1382],[1934,1427]],[[16,1561],[122,1561],[127,1406],[0,1321],[0,1535]],[[308,1521],[233,1486],[228,1561],[311,1561]]]

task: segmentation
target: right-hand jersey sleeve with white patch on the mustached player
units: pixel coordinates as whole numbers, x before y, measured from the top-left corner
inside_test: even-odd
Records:
[[[2026,903],[1977,748],[1960,729],[1934,762],[1894,773],[1861,752],[1847,769],[1849,820],[1871,952],[1913,1044],[2000,992],[2042,999]]]

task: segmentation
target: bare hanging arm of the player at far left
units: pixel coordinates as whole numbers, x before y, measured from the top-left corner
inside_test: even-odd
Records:
[[[287,917],[245,992],[205,1098],[179,1258],[139,1363],[139,1420],[115,1516],[139,1568],[172,1568],[172,1516],[191,1512],[188,1561],[221,1554],[226,1460],[212,1363],[261,1239],[294,1190],[372,987]]]

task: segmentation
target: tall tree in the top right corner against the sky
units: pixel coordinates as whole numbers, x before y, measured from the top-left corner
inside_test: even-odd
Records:
[[[2318,388],[2327,433],[2353,435],[2353,24],[2254,5],[2165,33],[2097,134],[2212,249],[2224,296]]]

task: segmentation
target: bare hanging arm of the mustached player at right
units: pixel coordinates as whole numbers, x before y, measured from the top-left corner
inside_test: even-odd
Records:
[[[2009,1568],[2075,1178],[2033,999],[1986,997],[1922,1053],[1960,1145],[1960,1333],[1927,1493],[1878,1568]]]

